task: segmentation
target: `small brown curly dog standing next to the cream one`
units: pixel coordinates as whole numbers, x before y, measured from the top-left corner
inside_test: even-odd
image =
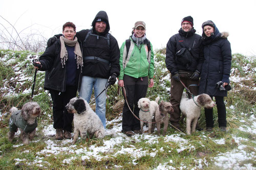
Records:
[[[165,133],[168,128],[168,122],[169,122],[169,114],[174,111],[172,104],[169,102],[161,101],[159,104],[159,112],[155,115],[155,120],[157,124],[157,134],[160,135],[160,129],[161,124],[164,124],[163,127],[163,136],[165,136]],[[154,126],[155,128],[155,126]]]

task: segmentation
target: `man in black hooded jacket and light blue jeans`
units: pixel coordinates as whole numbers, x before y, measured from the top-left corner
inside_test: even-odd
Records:
[[[79,96],[90,103],[92,90],[95,98],[108,83],[115,84],[120,73],[120,50],[115,37],[110,33],[109,18],[105,11],[99,11],[92,22],[92,29],[76,33],[82,42],[83,68]],[[56,35],[55,35],[56,36]],[[57,35],[56,37],[59,37]],[[56,38],[55,38],[56,39]],[[54,38],[48,40],[48,45]],[[96,99],[96,114],[105,127],[106,93]]]

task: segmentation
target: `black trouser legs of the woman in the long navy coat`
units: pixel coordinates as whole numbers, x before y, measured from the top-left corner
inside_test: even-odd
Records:
[[[213,96],[211,96],[211,99],[212,98]],[[224,97],[215,96],[215,100],[216,100],[216,105],[218,110],[219,127],[227,127],[226,106],[224,103]],[[204,108],[204,114],[205,114],[206,127],[214,127],[213,109]]]

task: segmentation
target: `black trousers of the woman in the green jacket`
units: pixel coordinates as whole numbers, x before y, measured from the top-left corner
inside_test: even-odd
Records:
[[[148,78],[133,78],[127,75],[123,77],[124,88],[126,92],[126,98],[129,106],[134,114],[139,117],[138,101],[140,98],[145,98]],[[123,131],[134,131],[140,130],[140,121],[134,117],[130,111],[126,101],[123,106],[123,118],[122,118],[122,130]]]

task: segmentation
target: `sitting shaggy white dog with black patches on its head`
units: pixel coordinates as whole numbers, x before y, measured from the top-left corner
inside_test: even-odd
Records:
[[[105,129],[99,116],[91,109],[90,105],[81,97],[75,97],[67,104],[69,113],[74,113],[74,139],[76,142],[80,133],[81,138],[87,134],[93,134],[96,138],[102,139],[105,136]]]

